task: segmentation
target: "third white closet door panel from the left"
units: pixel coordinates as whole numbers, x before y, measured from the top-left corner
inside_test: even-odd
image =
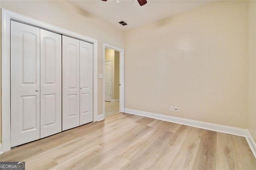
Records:
[[[79,126],[79,40],[62,36],[62,130]]]

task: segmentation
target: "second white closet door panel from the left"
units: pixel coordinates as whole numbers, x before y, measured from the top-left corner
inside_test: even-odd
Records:
[[[40,30],[41,106],[40,137],[62,130],[62,47],[61,35]]]

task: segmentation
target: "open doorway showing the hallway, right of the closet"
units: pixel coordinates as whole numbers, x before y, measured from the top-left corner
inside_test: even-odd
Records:
[[[105,83],[104,111],[105,117],[120,113],[120,52],[105,47]]]

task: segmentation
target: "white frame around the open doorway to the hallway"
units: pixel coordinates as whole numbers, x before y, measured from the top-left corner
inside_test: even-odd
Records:
[[[115,47],[113,45],[109,45],[103,43],[103,62],[105,63],[105,48],[114,49],[120,52],[120,63],[119,63],[119,111],[124,113],[124,49]],[[105,64],[103,64],[103,116],[105,118]]]

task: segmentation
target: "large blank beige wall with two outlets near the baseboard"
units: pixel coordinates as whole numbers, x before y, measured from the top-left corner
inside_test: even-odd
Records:
[[[246,21],[215,2],[126,32],[125,107],[246,128]]]

